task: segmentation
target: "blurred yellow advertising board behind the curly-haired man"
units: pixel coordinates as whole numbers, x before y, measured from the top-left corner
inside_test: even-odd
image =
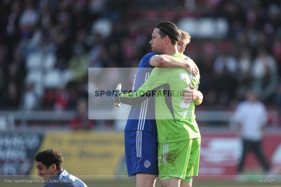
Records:
[[[122,132],[47,132],[38,151],[47,148],[61,151],[63,169],[78,178],[126,175]],[[35,162],[30,175],[37,175]]]

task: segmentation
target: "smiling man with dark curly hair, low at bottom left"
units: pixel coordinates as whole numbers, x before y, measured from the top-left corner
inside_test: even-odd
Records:
[[[36,153],[37,175],[44,180],[44,187],[87,187],[87,185],[77,177],[67,173],[62,169],[63,156],[60,151],[47,149]]]

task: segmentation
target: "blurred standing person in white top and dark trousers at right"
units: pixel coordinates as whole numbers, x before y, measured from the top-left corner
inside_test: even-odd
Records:
[[[256,93],[248,92],[247,99],[239,103],[234,113],[234,121],[238,124],[243,141],[242,157],[237,170],[238,174],[241,175],[249,151],[254,152],[264,170],[268,172],[269,164],[265,161],[262,151],[263,130],[267,122],[267,110],[265,105],[258,100]]]

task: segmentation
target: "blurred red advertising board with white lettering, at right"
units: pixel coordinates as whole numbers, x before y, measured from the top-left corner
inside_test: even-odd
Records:
[[[281,136],[265,134],[263,153],[271,170],[281,173]],[[235,133],[201,133],[199,175],[236,175],[242,141]],[[246,156],[244,174],[260,173],[262,167],[253,153]]]

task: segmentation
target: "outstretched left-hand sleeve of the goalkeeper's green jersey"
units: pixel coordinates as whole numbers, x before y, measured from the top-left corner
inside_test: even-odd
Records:
[[[155,67],[145,83],[133,93],[119,95],[119,101],[128,105],[140,105],[146,98],[156,93],[158,89],[167,83],[166,68]]]

